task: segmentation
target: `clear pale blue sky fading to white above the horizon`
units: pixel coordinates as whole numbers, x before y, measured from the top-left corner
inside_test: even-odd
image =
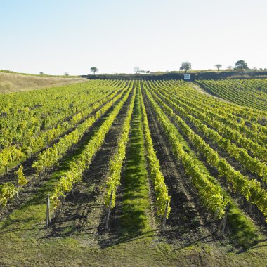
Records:
[[[0,0],[0,69],[267,67],[266,0]]]

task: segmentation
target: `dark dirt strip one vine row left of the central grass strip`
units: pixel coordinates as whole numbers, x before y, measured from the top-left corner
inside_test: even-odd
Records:
[[[105,219],[103,202],[108,162],[115,151],[131,96],[132,93],[112,124],[102,148],[93,157],[89,169],[83,174],[82,182],[74,186],[54,214],[52,236],[91,235],[91,238],[87,237],[87,245],[98,244],[100,236],[97,234],[103,230]]]

